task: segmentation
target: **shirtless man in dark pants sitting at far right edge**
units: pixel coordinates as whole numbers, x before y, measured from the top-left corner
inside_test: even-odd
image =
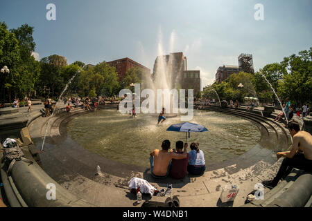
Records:
[[[285,159],[281,162],[281,167],[275,178],[262,182],[269,189],[277,186],[279,180],[291,173],[293,168],[312,172],[311,134],[306,131],[300,131],[300,126],[296,122],[290,122],[288,130],[291,133],[291,137],[293,137],[293,145],[291,146],[291,151],[277,153],[277,158],[285,157]]]

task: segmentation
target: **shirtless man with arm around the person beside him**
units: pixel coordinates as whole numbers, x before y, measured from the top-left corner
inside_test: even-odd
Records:
[[[187,158],[187,143],[184,144],[183,153],[168,152],[170,141],[162,142],[162,150],[155,149],[150,153],[150,173],[155,178],[165,178],[170,173],[171,160],[181,160]]]

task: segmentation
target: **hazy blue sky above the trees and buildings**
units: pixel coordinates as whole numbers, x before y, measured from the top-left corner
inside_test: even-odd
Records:
[[[55,20],[46,19],[49,3]],[[263,6],[263,19],[256,20]],[[153,71],[162,52],[183,52],[212,84],[224,64],[252,54],[254,69],[312,47],[311,0],[0,0],[8,28],[34,27],[35,57],[98,64],[129,57]]]

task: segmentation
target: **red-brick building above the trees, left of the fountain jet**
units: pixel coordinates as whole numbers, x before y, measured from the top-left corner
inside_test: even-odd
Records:
[[[149,68],[146,68],[146,66],[143,66],[143,65],[137,63],[136,61],[133,61],[132,59],[130,59],[128,57],[118,59],[118,60],[114,60],[114,61],[109,61],[109,62],[107,62],[107,64],[116,68],[116,71],[117,71],[118,77],[119,77],[119,81],[121,81],[121,79],[123,79],[123,77],[125,77],[125,73],[127,73],[127,71],[133,67],[140,67],[143,70],[146,70],[146,73],[150,74]]]

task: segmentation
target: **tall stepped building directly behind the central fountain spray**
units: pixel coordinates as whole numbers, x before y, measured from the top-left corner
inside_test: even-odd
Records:
[[[163,62],[165,70],[158,70],[158,68],[162,68],[159,62]],[[166,73],[167,82],[171,82],[169,87],[194,89],[194,95],[200,91],[200,70],[187,70],[187,57],[183,55],[183,52],[157,56],[153,67],[154,81],[161,78],[157,75],[160,75],[162,71]]]

